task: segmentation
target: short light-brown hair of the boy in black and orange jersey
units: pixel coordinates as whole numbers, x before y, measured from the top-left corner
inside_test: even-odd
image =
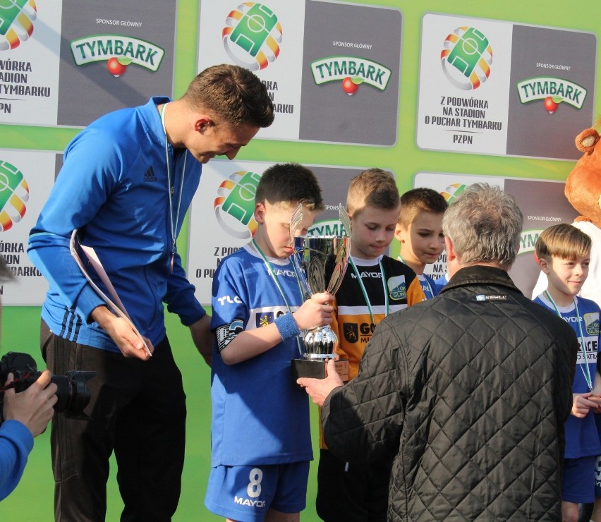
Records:
[[[346,212],[353,216],[368,205],[383,210],[399,207],[399,189],[390,172],[367,169],[351,180],[346,195]]]

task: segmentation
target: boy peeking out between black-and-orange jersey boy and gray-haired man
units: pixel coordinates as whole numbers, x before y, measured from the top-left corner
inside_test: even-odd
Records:
[[[394,231],[400,245],[399,261],[418,274],[427,299],[440,290],[424,270],[444,250],[442,216],[448,206],[447,200],[432,188],[414,188],[401,195],[401,214]]]

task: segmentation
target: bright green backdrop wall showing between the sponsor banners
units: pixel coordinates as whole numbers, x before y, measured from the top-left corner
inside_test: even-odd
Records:
[[[38,0],[42,3],[44,0]],[[396,173],[401,192],[412,188],[413,176],[418,171],[441,171],[461,174],[486,174],[516,178],[564,180],[573,162],[517,157],[497,157],[476,154],[454,154],[418,150],[415,146],[415,117],[418,99],[419,53],[421,19],[425,13],[449,13],[476,18],[506,20],[515,23],[544,25],[593,32],[598,37],[601,3],[589,2],[585,8],[559,1],[506,0],[504,2],[473,2],[457,0],[347,0],[348,3],[388,6],[403,13],[401,54],[401,92],[399,105],[399,140],[394,147],[360,147],[308,142],[253,140],[238,154],[238,159],[269,162],[303,162],[307,164],[380,166]],[[198,1],[178,0],[178,22],[175,63],[175,96],[180,96],[196,67]],[[597,70],[596,82],[599,84]],[[157,92],[157,95],[164,94]],[[591,93],[592,95],[593,93]],[[598,106],[595,103],[595,117]],[[62,151],[78,132],[73,128],[46,128],[35,126],[0,126],[0,146],[4,148]],[[346,188],[341,188],[344,198]],[[178,250],[187,257],[185,238],[187,227],[181,232]],[[396,253],[393,247],[393,253]],[[40,367],[38,349],[40,309],[37,307],[7,307],[2,315],[1,351],[32,353]],[[210,370],[198,355],[188,330],[177,317],[168,315],[167,330],[174,356],[183,373],[188,395],[188,439],[186,464],[183,471],[183,490],[175,521],[213,521],[221,518],[210,514],[203,504],[210,470]],[[317,456],[317,408],[312,407],[312,427]],[[251,434],[248,434],[251,436]],[[245,437],[245,434],[241,434]],[[308,487],[308,506],[301,514],[305,521],[317,521],[315,514],[317,466],[311,466]],[[107,520],[119,520],[122,503],[115,480],[116,466],[111,461],[108,485],[109,506]],[[54,482],[49,456],[49,430],[35,439],[23,479],[8,499],[0,504],[2,520],[51,521]]]

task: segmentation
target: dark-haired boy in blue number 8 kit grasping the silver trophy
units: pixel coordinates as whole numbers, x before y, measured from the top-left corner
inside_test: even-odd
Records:
[[[225,257],[214,277],[211,329],[211,473],[205,505],[234,521],[297,522],[305,509],[312,460],[309,403],[293,381],[301,330],[332,322],[332,299],[303,292],[289,256],[299,204],[307,233],[324,209],[315,175],[276,164],[255,195],[253,241]]]

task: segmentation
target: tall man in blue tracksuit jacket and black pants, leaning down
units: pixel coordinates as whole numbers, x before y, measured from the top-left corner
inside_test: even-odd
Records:
[[[30,233],[28,253],[49,281],[40,342],[53,374],[94,370],[97,377],[88,382],[85,413],[92,420],[56,415],[52,423],[56,520],[104,521],[112,451],[125,504],[121,519],[162,521],[174,514],[186,396],[163,303],[190,327],[198,350],[211,351],[210,318],[186,279],[176,238],[202,164],[216,155],[233,159],[273,117],[253,73],[213,66],[180,99],[153,97],[102,116],[66,148]],[[94,248],[148,350],[75,264],[69,251],[75,229]]]

